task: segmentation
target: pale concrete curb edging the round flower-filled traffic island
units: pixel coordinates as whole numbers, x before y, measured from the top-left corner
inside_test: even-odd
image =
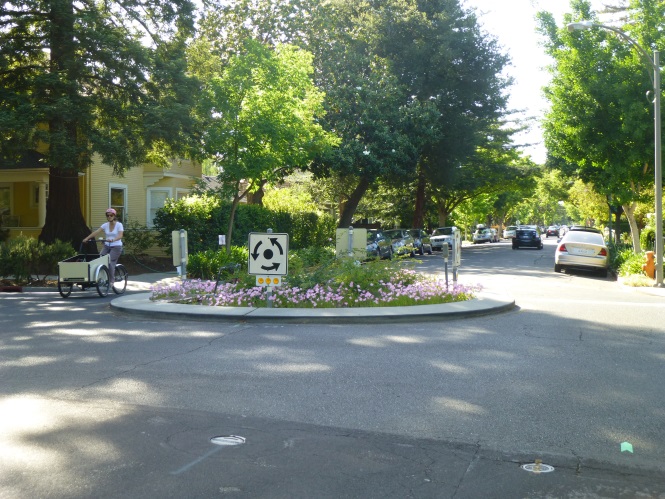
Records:
[[[149,317],[229,321],[280,321],[289,323],[354,324],[376,322],[423,322],[460,319],[505,312],[515,307],[515,300],[506,295],[480,292],[463,302],[411,307],[358,308],[253,308],[209,307],[151,301],[150,293],[135,293],[111,301],[111,308]]]

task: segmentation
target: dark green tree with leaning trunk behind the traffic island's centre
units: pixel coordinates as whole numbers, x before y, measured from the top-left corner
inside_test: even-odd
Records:
[[[370,2],[333,1],[315,14],[308,44],[317,85],[326,92],[323,123],[342,142],[317,158],[312,171],[352,186],[340,203],[339,227],[348,227],[377,181],[404,182],[413,175],[416,140],[427,138],[438,112],[431,102],[411,98],[395,74],[399,68],[373,49],[376,8]]]

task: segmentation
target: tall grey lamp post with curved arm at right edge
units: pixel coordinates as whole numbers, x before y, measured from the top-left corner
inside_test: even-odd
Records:
[[[568,31],[602,28],[613,31],[630,43],[642,56],[647,65],[653,69],[653,120],[655,142],[655,191],[656,191],[656,287],[663,287],[663,174],[661,163],[661,120],[660,120],[660,52],[653,51],[653,61],[649,54],[631,37],[622,30],[613,26],[594,23],[593,21],[579,21],[567,25]]]

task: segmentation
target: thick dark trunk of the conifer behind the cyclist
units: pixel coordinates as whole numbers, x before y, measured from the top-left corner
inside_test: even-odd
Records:
[[[78,173],[51,167],[46,219],[39,240],[51,244],[59,239],[69,242],[78,251],[81,241],[90,232],[81,213]]]

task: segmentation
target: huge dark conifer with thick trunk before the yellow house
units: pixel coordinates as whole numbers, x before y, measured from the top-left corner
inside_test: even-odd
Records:
[[[78,175],[94,154],[115,173],[184,154],[193,136],[184,47],[190,0],[9,1],[0,6],[0,156],[44,152],[40,239],[89,233]]]

